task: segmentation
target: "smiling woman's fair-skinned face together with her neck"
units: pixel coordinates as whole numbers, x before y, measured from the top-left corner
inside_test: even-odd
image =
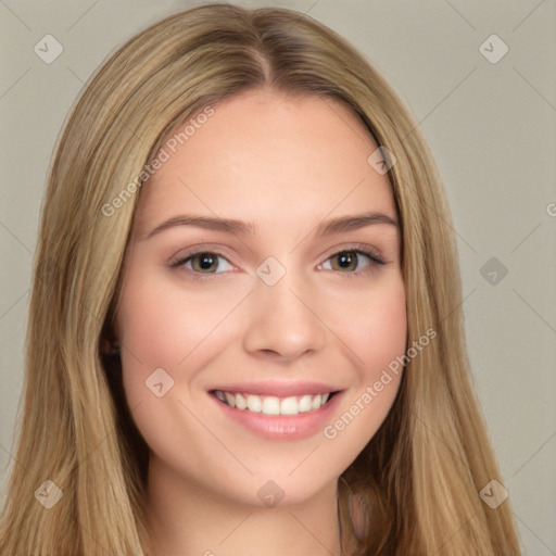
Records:
[[[376,148],[340,103],[258,89],[215,104],[143,185],[116,332],[151,451],[155,556],[342,553],[338,479],[401,377],[361,400],[406,342],[400,229],[388,177],[367,163]],[[364,226],[323,231],[370,213]],[[256,229],[175,220],[185,215]],[[174,381],[161,396],[146,387],[159,368],[159,392]],[[274,397],[267,407],[280,410],[295,397],[298,415],[232,408],[217,390],[258,394],[255,406]],[[332,392],[301,412],[301,397]],[[325,435],[357,401],[359,415]]]

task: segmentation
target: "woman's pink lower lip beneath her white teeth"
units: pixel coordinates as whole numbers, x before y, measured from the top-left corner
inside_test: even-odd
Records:
[[[323,407],[298,415],[265,415],[248,409],[237,409],[213,394],[218,407],[226,417],[251,432],[267,440],[303,440],[321,431],[340,403],[342,392],[336,393]]]

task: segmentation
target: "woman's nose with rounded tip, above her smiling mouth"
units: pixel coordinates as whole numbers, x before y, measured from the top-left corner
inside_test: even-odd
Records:
[[[257,280],[249,303],[243,348],[252,355],[287,363],[325,346],[317,295],[291,273],[274,286]]]

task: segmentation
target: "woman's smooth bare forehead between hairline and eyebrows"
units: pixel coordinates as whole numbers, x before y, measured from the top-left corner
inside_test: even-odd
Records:
[[[181,123],[163,142],[166,161],[140,193],[140,229],[180,212],[274,225],[362,205],[395,216],[387,176],[367,162],[377,146],[342,103],[263,89],[207,114]]]

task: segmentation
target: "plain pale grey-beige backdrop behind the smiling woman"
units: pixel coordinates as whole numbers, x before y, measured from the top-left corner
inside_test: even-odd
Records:
[[[30,266],[62,123],[109,53],[201,3],[0,0],[1,484],[13,464]],[[554,0],[237,3],[291,8],[329,25],[415,113],[454,213],[470,359],[525,552],[556,555]],[[50,64],[34,51],[48,34],[64,49]],[[502,45],[479,49],[493,34],[509,49],[496,63],[481,50],[497,58]]]

